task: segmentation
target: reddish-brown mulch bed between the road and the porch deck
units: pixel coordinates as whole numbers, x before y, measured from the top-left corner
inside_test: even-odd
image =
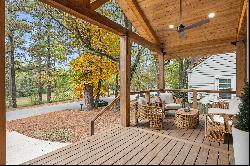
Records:
[[[90,121],[99,110],[64,110],[7,122],[7,130],[57,142],[77,142],[89,136]],[[107,111],[95,121],[95,133],[120,123],[119,111]]]

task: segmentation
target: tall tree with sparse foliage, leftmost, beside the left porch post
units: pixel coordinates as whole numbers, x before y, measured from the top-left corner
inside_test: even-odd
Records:
[[[23,56],[22,51],[25,50],[24,35],[30,30],[30,24],[20,18],[20,8],[22,4],[14,0],[6,1],[6,66],[7,70],[7,82],[8,91],[11,100],[9,104],[13,107],[17,107],[17,89],[16,89],[16,68],[17,64],[21,63],[17,57]]]

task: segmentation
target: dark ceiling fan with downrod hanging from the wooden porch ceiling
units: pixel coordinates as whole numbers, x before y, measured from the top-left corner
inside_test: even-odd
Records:
[[[185,37],[185,30],[189,30],[189,29],[193,29],[193,28],[198,28],[198,27],[200,27],[202,25],[205,25],[205,24],[209,23],[210,19],[213,18],[214,16],[215,16],[215,13],[209,13],[207,19],[204,19],[204,20],[201,20],[201,21],[198,21],[198,22],[195,22],[193,24],[185,26],[182,23],[182,0],[180,0],[179,26],[176,28],[175,31],[179,33],[179,38],[180,39],[184,39],[184,37]],[[174,25],[169,25],[169,29],[173,29],[173,28],[174,28]]]

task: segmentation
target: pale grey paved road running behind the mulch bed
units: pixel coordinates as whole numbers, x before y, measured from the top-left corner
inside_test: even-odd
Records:
[[[114,97],[103,98],[103,100],[107,102],[111,102],[113,99]],[[56,104],[56,105],[47,105],[47,106],[41,106],[41,107],[10,111],[6,113],[6,120],[7,121],[17,120],[17,119],[27,118],[31,116],[36,116],[36,115],[47,114],[49,112],[62,111],[65,109],[80,109],[81,108],[80,103],[83,103],[83,102],[61,103],[61,104]]]

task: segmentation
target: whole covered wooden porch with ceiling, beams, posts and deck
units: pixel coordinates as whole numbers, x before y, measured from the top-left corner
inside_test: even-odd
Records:
[[[163,130],[149,129],[144,125],[133,126],[130,95],[137,92],[130,90],[130,42],[149,48],[158,59],[159,88],[155,91],[159,92],[167,91],[164,78],[166,60],[236,52],[237,89],[235,93],[240,96],[244,82],[249,80],[247,0],[184,1],[183,22],[185,24],[205,19],[209,12],[214,12],[216,15],[204,27],[187,31],[182,40],[179,39],[177,32],[171,32],[168,29],[168,25],[178,22],[179,3],[176,0],[168,2],[117,0],[138,33],[112,22],[95,11],[108,0],[41,1],[120,35],[120,96],[95,119],[120,101],[121,126],[114,126],[102,134],[88,137],[82,142],[25,164],[234,164],[231,144],[208,142],[204,139],[203,115],[200,115],[196,129],[176,128],[173,119],[168,118],[164,119]],[[4,3],[4,1],[0,2],[0,94],[2,94],[0,95],[0,164],[6,163],[6,113],[5,95],[3,95],[5,94]],[[193,92],[192,107],[197,108],[197,90],[184,91]],[[144,91],[144,93],[149,94],[150,91]],[[95,119],[91,122],[92,134],[94,134]]]

